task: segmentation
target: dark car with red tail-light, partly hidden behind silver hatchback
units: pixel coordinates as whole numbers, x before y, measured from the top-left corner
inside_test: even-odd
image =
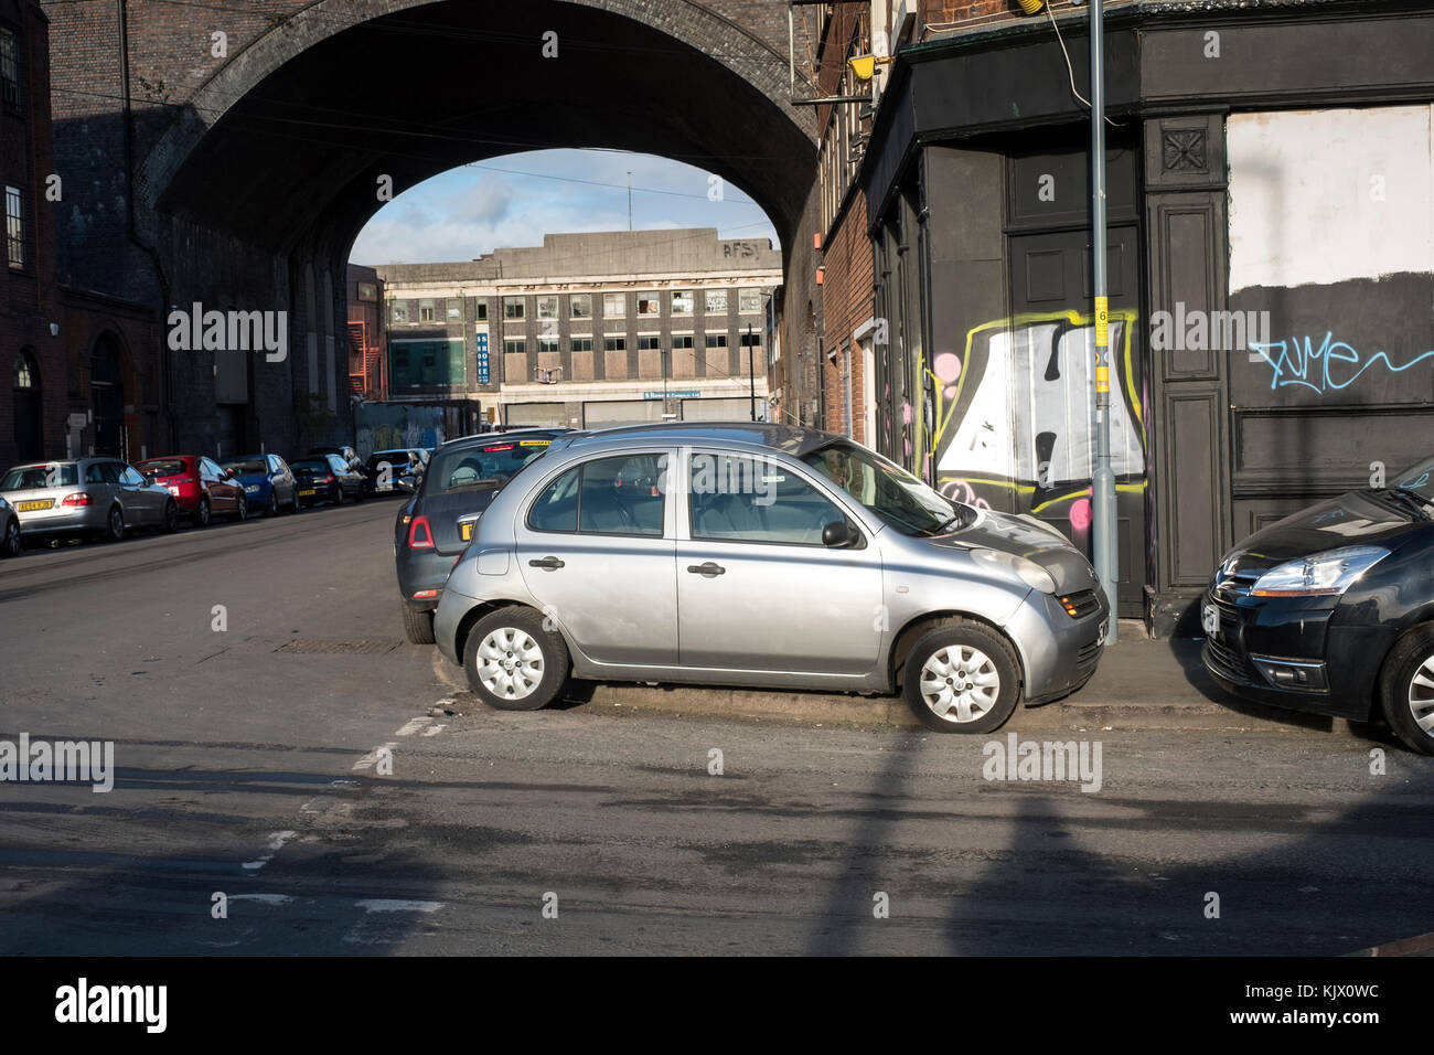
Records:
[[[433,452],[423,482],[393,525],[399,606],[410,642],[433,643],[433,610],[447,573],[467,548],[473,525],[493,495],[564,432],[568,429],[486,432]]]

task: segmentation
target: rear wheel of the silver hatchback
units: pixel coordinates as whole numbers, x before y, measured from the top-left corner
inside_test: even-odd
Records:
[[[538,711],[568,680],[568,646],[543,629],[532,609],[511,606],[483,616],[463,646],[463,670],[473,693],[499,711]]]

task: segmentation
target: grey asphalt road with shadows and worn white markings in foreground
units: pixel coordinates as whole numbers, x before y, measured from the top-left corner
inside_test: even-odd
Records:
[[[1377,775],[1380,745],[1301,728],[1074,733],[1100,745],[1087,792],[985,779],[1020,723],[489,712],[403,642],[396,508],[0,564],[0,739],[112,739],[116,765],[108,794],[0,784],[0,953],[1325,955],[1434,932],[1431,759],[1385,746]]]

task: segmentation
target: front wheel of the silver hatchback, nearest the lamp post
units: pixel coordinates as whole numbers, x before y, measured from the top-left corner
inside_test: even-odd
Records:
[[[934,732],[991,732],[1020,702],[1020,667],[1001,634],[979,623],[928,630],[906,656],[902,695]]]

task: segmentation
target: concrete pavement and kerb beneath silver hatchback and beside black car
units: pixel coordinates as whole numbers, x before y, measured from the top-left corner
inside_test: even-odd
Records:
[[[1368,735],[1344,719],[1243,703],[1228,696],[1200,663],[1199,639],[1150,640],[1121,622],[1090,683],[1074,696],[1020,708],[1005,729],[1319,729]],[[588,706],[667,711],[710,718],[770,718],[803,723],[923,728],[899,696],[777,689],[645,686],[574,682],[569,699]]]

